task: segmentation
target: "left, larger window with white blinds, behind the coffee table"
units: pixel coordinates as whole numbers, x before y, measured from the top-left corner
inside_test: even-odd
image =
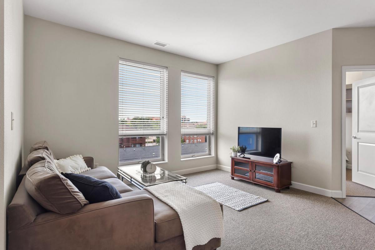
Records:
[[[167,69],[124,59],[118,67],[119,164],[163,160]]]

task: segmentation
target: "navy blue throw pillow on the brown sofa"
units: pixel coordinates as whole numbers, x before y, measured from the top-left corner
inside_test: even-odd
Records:
[[[98,180],[91,176],[80,174],[61,174],[68,178],[91,204],[121,198],[117,189],[108,181]]]

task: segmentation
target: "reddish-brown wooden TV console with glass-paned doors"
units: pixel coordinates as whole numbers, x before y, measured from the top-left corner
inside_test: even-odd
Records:
[[[271,187],[276,193],[292,185],[292,162],[273,163],[273,159],[251,156],[251,159],[231,157],[231,179],[238,178]]]

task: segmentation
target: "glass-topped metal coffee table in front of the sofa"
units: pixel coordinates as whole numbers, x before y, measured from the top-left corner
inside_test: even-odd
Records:
[[[168,170],[156,167],[153,174],[144,174],[141,171],[141,166],[119,166],[117,168],[117,178],[124,179],[132,183],[139,189],[144,187],[154,186],[160,183],[169,181],[181,181],[187,183],[187,178],[178,174],[174,174]]]

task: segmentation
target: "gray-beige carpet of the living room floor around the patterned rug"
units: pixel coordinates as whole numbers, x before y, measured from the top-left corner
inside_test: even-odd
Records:
[[[332,198],[293,188],[275,193],[219,169],[184,176],[190,186],[217,181],[269,199],[240,212],[223,207],[220,250],[374,250],[375,225]]]

